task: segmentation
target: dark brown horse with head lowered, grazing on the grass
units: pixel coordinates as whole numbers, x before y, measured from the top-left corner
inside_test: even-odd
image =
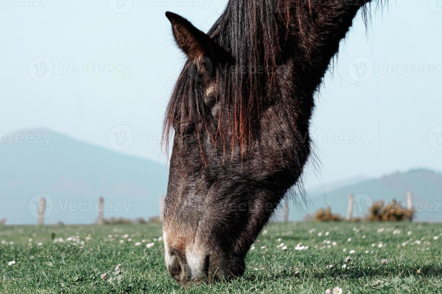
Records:
[[[208,33],[166,13],[187,55],[163,137],[167,145],[173,134],[165,260],[179,284],[244,273],[251,244],[300,179],[314,94],[369,2],[229,0]]]

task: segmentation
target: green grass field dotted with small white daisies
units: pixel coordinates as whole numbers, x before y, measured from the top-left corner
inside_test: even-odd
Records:
[[[266,231],[240,279],[184,289],[166,272],[158,224],[0,227],[0,293],[442,292],[441,224],[273,223]],[[146,248],[149,242],[154,245]],[[286,250],[277,247],[282,242]],[[309,248],[295,250],[298,243]],[[347,256],[351,261],[342,268]],[[114,279],[100,279],[104,272]]]

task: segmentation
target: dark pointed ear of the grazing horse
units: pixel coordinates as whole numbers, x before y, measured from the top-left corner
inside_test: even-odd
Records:
[[[172,24],[173,36],[178,47],[194,61],[200,72],[206,71],[205,60],[213,59],[215,42],[182,16],[168,11],[166,17]]]

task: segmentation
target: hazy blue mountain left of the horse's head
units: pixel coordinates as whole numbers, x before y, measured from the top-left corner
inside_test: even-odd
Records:
[[[108,205],[104,217],[159,215],[167,167],[50,130],[19,133],[42,134],[42,138],[0,143],[0,219],[6,217],[7,224],[36,223],[34,201],[39,197],[34,196],[38,194],[52,199],[46,223],[94,222],[99,196]],[[50,138],[47,146],[43,136]]]

